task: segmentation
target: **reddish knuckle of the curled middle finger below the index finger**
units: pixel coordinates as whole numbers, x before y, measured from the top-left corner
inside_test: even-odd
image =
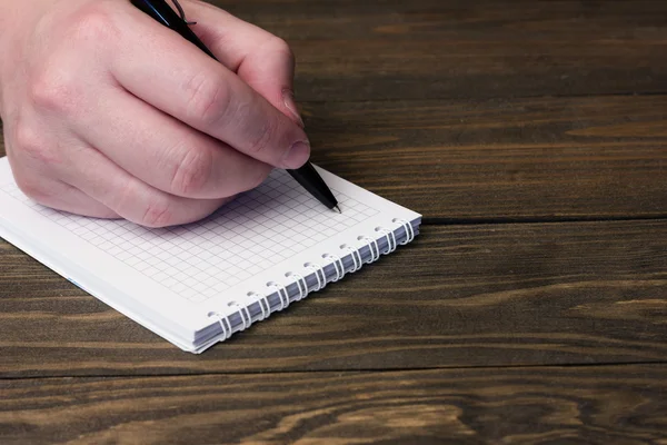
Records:
[[[212,154],[206,149],[185,150],[171,178],[171,191],[179,196],[201,194],[211,176]]]

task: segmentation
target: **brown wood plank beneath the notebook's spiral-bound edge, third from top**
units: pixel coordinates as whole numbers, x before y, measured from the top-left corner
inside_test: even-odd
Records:
[[[200,356],[0,244],[0,376],[667,359],[667,220],[426,226]]]

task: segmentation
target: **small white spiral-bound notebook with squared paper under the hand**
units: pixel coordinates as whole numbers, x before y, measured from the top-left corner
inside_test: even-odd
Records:
[[[203,220],[150,229],[34,204],[2,158],[0,237],[173,345],[201,353],[418,234],[417,212],[316,168],[341,214],[273,170]]]

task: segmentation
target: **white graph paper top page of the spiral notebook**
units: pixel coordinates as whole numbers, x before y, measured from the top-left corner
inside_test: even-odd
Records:
[[[23,244],[60,249],[68,260],[122,287],[126,294],[136,294],[146,306],[168,312],[167,318],[183,317],[183,312],[206,307],[207,301],[219,305],[226,296],[242,298],[248,289],[263,286],[270,277],[282,277],[285,270],[301,270],[306,261],[321,260],[321,251],[344,243],[354,245],[358,234],[386,226],[390,217],[411,220],[418,216],[320,172],[342,214],[326,209],[285,170],[273,170],[257,189],[203,220],[150,229],[37,205],[19,190],[7,159],[1,159],[0,204],[13,211],[3,212],[0,225],[23,230]],[[39,235],[49,233],[53,236]],[[58,269],[58,265],[49,266]]]

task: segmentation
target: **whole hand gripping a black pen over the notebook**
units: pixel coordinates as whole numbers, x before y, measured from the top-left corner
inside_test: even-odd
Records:
[[[26,195],[162,227],[306,162],[288,46],[181,6],[220,62],[126,0],[0,0],[0,113]]]

